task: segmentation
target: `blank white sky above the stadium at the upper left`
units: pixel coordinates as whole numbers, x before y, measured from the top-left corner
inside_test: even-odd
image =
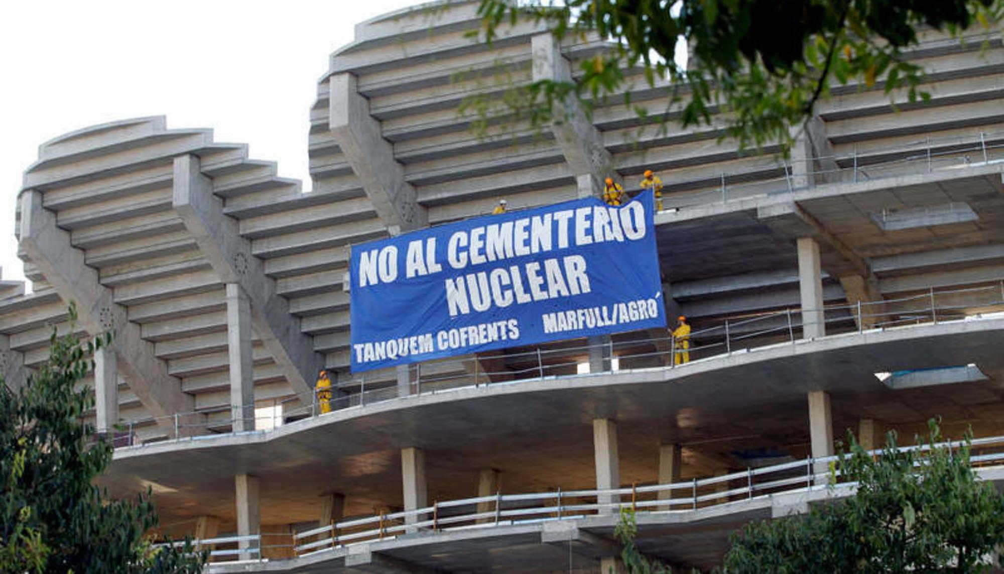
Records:
[[[420,0],[4,1],[0,4],[0,265],[21,174],[38,145],[80,127],[167,115],[308,189],[307,113],[327,56],[362,20]]]

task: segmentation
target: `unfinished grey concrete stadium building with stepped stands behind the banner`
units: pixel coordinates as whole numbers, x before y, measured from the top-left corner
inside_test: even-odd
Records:
[[[468,36],[477,4],[362,22],[331,54],[309,193],[163,117],[41,145],[16,207],[33,289],[0,283],[0,366],[21,384],[69,301],[73,328],[115,330],[85,381],[96,426],[119,427],[110,492],[152,488],[211,572],[605,572],[617,505],[644,552],[708,567],[746,521],[827,496],[818,459],[848,428],[875,445],[940,415],[1004,446],[999,29],[923,32],[930,101],[834,88],[782,161],[615,97],[473,134],[466,98],[603,49],[532,21],[488,46]],[[663,292],[690,362],[659,330],[349,372],[352,244],[646,169],[666,183]]]

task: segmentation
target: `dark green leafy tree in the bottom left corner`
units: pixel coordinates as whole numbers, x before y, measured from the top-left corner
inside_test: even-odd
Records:
[[[157,525],[150,492],[109,500],[92,484],[111,446],[81,422],[93,396],[77,384],[93,368],[93,351],[109,341],[110,334],[82,340],[53,329],[49,359],[28,382],[16,390],[0,384],[2,572],[202,571],[206,557],[188,543],[157,548],[145,539]]]

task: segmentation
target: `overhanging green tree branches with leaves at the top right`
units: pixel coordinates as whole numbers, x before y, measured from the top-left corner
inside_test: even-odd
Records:
[[[662,109],[636,105],[640,114],[679,117],[686,127],[725,112],[724,134],[761,148],[790,145],[793,126],[834,83],[927,98],[924,70],[909,59],[918,28],[990,31],[1004,0],[481,0],[479,14],[489,41],[528,17],[558,38],[604,38],[611,47],[583,61],[572,81],[533,82],[501,105],[469,99],[462,109],[482,115],[476,126],[513,113],[538,127],[560,121],[553,104],[572,94],[588,106],[624,91],[631,103],[628,88],[641,75],[667,86],[667,98]],[[687,66],[674,57],[678,41],[691,46]]]

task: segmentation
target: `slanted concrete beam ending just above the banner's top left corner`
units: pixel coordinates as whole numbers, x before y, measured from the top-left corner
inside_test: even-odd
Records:
[[[419,205],[415,188],[405,181],[405,168],[384,138],[381,122],[369,113],[369,101],[359,94],[355,76],[334,74],[328,87],[328,128],[381,221],[392,235],[428,226],[429,214]]]

